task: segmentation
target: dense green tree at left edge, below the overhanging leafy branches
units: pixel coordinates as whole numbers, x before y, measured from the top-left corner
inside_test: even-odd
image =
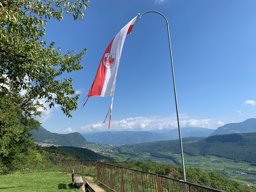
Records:
[[[33,118],[40,115],[38,107],[42,105],[26,95],[21,96],[19,89],[10,88],[9,94],[0,93],[0,164],[19,159],[19,153],[34,146],[29,131],[40,126]]]

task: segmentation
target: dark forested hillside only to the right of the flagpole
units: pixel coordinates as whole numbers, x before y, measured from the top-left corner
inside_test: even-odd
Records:
[[[256,165],[256,133],[227,134],[210,136],[204,140],[184,144],[184,152],[246,161]]]

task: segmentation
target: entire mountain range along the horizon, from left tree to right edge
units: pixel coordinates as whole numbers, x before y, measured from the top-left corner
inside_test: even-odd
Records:
[[[78,132],[69,134],[51,133],[43,127],[39,131],[32,130],[33,137],[38,143],[54,144],[59,146],[76,146],[81,147],[88,142],[100,144],[128,144],[144,143],[161,140],[175,140],[179,138],[178,129],[171,130],[154,130],[154,131],[106,131],[98,133],[80,134]],[[240,123],[229,123],[218,129],[208,129],[200,127],[181,128],[182,138],[203,137],[256,132],[256,118],[250,118]]]

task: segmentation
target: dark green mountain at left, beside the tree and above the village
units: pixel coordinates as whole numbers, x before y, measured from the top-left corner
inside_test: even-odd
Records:
[[[82,147],[88,144],[86,139],[78,132],[69,134],[51,133],[41,126],[38,131],[32,130],[31,133],[33,134],[32,138],[35,138],[38,143],[75,147]]]

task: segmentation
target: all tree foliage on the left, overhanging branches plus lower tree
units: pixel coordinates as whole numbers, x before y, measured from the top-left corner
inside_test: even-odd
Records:
[[[43,41],[48,20],[64,14],[82,20],[88,0],[2,0],[0,1],[0,163],[10,163],[33,146],[28,131],[40,123],[34,116],[43,107],[60,106],[71,117],[77,109],[72,79],[62,74],[82,69],[86,49],[62,54],[54,42]]]

